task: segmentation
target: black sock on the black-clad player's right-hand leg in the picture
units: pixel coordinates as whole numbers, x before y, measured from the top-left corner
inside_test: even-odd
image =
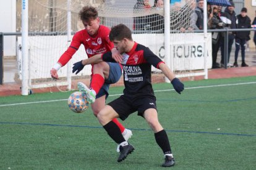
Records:
[[[171,153],[171,146],[169,143],[169,139],[164,129],[162,131],[155,133],[155,139],[156,139],[156,143],[163,150],[164,154]]]

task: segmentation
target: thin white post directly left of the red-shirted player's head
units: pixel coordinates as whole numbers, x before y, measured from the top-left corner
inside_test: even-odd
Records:
[[[71,42],[71,0],[67,0],[67,46],[70,46]],[[71,67],[70,62],[67,63],[67,89],[71,90]]]

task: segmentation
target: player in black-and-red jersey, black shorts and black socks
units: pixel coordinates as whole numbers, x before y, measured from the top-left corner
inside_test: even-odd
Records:
[[[134,151],[134,147],[124,139],[112,119],[121,118],[124,120],[130,114],[138,111],[138,115],[145,118],[151,129],[153,129],[156,143],[163,150],[164,163],[162,166],[173,166],[175,161],[168,136],[158,121],[156,97],[151,85],[151,65],[163,71],[179,94],[184,90],[184,84],[175,78],[174,73],[168,66],[153,54],[148,47],[133,41],[132,33],[126,25],[119,24],[113,26],[109,33],[109,39],[114,42],[114,47],[122,54],[122,57],[113,59],[111,52],[106,52],[105,54],[98,54],[90,59],[82,60],[82,64],[88,65],[103,61],[122,64],[125,86],[124,94],[108,103],[97,116],[104,129],[108,132],[108,135],[119,144],[120,155],[117,161],[121,162],[126,159],[127,155]],[[79,90],[82,92],[85,90],[90,91],[88,87],[82,89],[79,87]],[[90,94],[90,92],[87,92],[87,94]]]

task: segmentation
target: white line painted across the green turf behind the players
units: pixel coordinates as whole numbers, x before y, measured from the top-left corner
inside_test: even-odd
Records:
[[[219,84],[219,85],[212,85],[212,86],[198,86],[198,87],[186,87],[187,89],[201,89],[201,88],[210,88],[210,87],[223,87],[223,86],[238,86],[238,85],[244,85],[244,84],[256,84],[256,82],[247,82],[247,83],[235,83],[235,84]],[[158,90],[154,92],[165,92],[165,91],[174,91],[174,89],[168,89],[168,90]],[[122,94],[112,94],[111,96],[119,96]],[[59,102],[64,101],[67,99],[59,99],[59,100],[48,100],[48,101],[39,101],[39,102],[25,102],[25,103],[12,103],[12,104],[6,104],[6,105],[0,105],[0,107],[6,107],[6,106],[12,106],[12,105],[27,105],[27,104],[33,104],[33,103],[47,103],[47,102]]]

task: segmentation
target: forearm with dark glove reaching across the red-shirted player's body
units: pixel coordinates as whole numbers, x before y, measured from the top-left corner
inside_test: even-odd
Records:
[[[72,73],[75,73],[76,71],[75,75],[77,75],[81,70],[83,70],[83,67],[85,67],[85,65],[95,64],[100,62],[103,62],[103,60],[101,59],[101,54],[93,55],[89,59],[81,60],[80,62],[74,63]]]

